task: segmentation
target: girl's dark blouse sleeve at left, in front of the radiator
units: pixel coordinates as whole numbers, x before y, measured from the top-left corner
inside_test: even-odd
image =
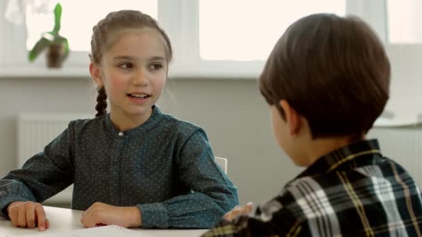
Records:
[[[28,159],[22,168],[0,179],[0,215],[8,218],[11,202],[43,202],[72,184],[69,130],[51,141],[42,152]]]

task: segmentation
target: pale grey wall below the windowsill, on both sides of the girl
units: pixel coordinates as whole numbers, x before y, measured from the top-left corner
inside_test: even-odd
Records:
[[[176,79],[160,100],[163,112],[208,133],[215,155],[228,159],[240,202],[276,195],[298,172],[273,141],[269,111],[255,80]],[[0,78],[0,176],[16,167],[19,112],[94,113],[94,90],[82,78]]]

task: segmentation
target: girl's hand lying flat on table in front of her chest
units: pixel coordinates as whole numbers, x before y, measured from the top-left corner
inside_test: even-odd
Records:
[[[137,207],[115,207],[102,202],[95,202],[82,215],[83,227],[97,225],[119,225],[121,227],[140,227],[141,211]]]

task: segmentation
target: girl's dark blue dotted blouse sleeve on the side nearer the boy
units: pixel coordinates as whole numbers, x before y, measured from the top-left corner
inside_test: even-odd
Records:
[[[140,204],[142,227],[210,228],[239,203],[237,188],[214,162],[205,132],[197,129],[178,157],[180,180],[192,193],[162,203]]]

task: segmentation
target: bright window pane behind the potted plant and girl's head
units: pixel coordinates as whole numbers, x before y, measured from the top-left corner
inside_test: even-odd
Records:
[[[142,9],[151,17],[157,18],[157,0],[119,0],[119,4],[112,1],[90,0],[81,2],[75,0],[60,0],[62,5],[62,25],[60,35],[69,40],[71,51],[90,51],[92,26],[103,19],[108,12],[122,9]],[[49,1],[49,12],[53,11],[57,1]],[[101,6],[101,7],[99,7]],[[35,12],[33,6],[26,7],[27,42],[26,49],[30,50],[40,35],[53,29],[53,15],[47,12]],[[75,13],[77,12],[77,17]],[[75,27],[78,26],[78,27]],[[86,55],[86,54],[85,54]]]

